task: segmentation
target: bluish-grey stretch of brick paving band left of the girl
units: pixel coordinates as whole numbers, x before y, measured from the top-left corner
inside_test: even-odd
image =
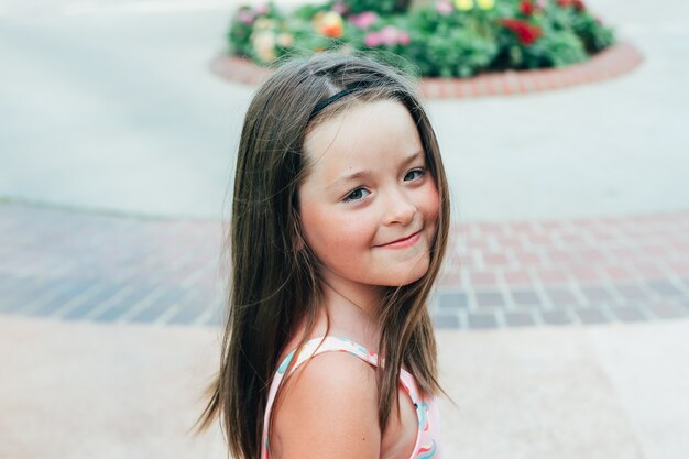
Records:
[[[0,313],[215,325],[219,223],[0,205]]]

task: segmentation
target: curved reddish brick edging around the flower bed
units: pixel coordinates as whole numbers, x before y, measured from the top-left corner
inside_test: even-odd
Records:
[[[506,96],[566,88],[613,78],[633,70],[643,61],[630,43],[617,43],[581,64],[562,68],[504,72],[473,78],[424,78],[422,91],[430,99]],[[271,70],[248,59],[220,55],[210,64],[222,78],[245,85],[260,85]]]

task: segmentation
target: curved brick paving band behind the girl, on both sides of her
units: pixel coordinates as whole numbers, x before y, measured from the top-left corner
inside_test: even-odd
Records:
[[[459,223],[431,304],[438,328],[689,316],[689,211]],[[220,324],[221,223],[0,204],[0,314]]]

